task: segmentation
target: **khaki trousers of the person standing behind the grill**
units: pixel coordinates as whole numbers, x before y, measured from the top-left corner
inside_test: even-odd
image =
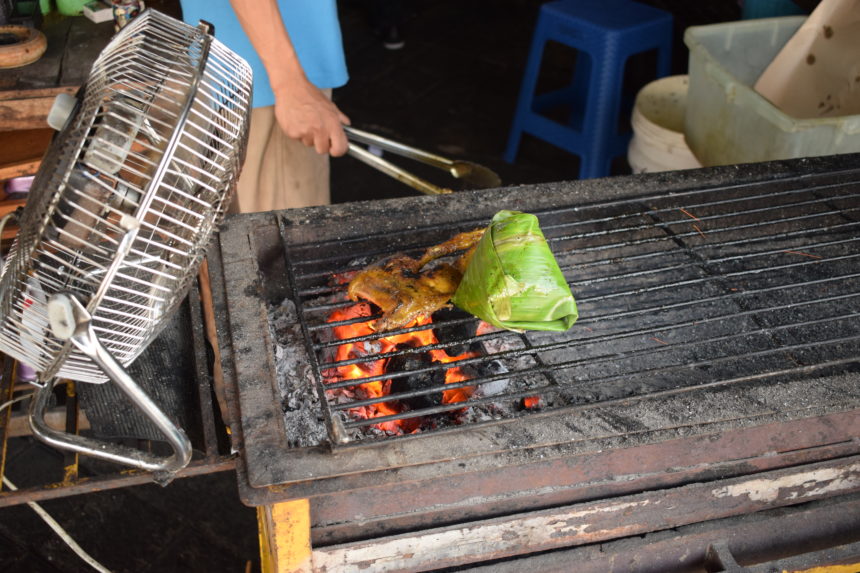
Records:
[[[245,163],[229,211],[254,213],[330,202],[329,156],[287,137],[274,106],[254,108]]]

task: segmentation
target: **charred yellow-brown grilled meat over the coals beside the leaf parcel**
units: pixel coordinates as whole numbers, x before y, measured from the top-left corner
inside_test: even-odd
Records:
[[[349,283],[351,300],[367,300],[382,310],[374,327],[383,332],[408,326],[420,316],[429,316],[446,306],[460,285],[469,257],[484,229],[460,233],[428,248],[418,258],[398,254],[359,272]],[[452,263],[431,262],[461,253]]]

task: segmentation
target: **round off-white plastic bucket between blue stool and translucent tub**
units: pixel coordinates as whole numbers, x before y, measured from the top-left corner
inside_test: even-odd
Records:
[[[633,173],[694,169],[702,164],[684,139],[688,77],[655,80],[636,94],[627,161]]]

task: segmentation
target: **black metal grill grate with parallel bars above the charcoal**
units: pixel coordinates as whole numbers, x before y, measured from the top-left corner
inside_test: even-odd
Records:
[[[418,349],[380,352],[379,334],[335,338],[334,327],[368,320],[328,322],[333,311],[354,304],[345,300],[343,284],[352,271],[397,251],[415,255],[487,221],[291,245],[294,300],[332,441],[423,433],[693,387],[856,371],[860,195],[855,183],[815,181],[535,212],[579,305],[579,322],[562,334],[469,334],[477,319],[454,313],[434,317],[433,328],[444,332],[438,343]],[[366,354],[336,359],[345,343]],[[464,349],[476,355],[447,364],[420,358],[430,350],[455,355]],[[387,362],[384,373],[357,380],[337,373],[378,360]],[[468,380],[442,382],[440,373],[454,366]],[[371,382],[391,393],[355,391]],[[467,389],[465,401],[440,400],[457,388]],[[374,409],[376,417],[362,417]]]

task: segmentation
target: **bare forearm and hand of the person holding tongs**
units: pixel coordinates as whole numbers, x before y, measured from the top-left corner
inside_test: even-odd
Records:
[[[275,94],[275,117],[287,137],[318,153],[340,156],[349,144],[349,118],[305,76],[275,0],[230,0]]]

